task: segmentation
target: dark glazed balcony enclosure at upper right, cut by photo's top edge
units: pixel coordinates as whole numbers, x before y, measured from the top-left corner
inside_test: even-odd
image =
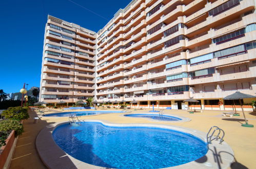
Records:
[[[216,16],[222,12],[225,12],[226,10],[233,8],[237,5],[239,5],[239,2],[242,0],[230,0],[216,8],[213,8],[212,10],[209,11],[209,16]]]

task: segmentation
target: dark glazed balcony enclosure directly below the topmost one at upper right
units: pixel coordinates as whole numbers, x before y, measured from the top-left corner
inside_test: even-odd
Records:
[[[216,43],[216,45],[219,45],[219,44],[225,43],[227,41],[243,37],[244,34],[245,34],[245,29],[240,29],[238,31],[231,32],[231,33],[225,34],[223,36],[219,36],[219,37],[213,38],[212,39],[212,43],[213,44]]]

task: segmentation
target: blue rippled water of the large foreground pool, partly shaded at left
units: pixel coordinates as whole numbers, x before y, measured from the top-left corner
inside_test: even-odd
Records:
[[[110,168],[164,168],[194,161],[208,149],[190,134],[161,128],[112,127],[97,122],[63,124],[53,139],[66,153]]]

